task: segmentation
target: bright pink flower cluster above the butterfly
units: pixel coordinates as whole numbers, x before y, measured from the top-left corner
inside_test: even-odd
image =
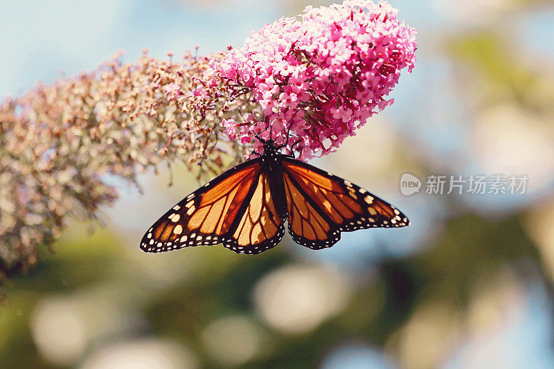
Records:
[[[226,122],[242,141],[254,134],[283,144],[300,159],[328,154],[393,99],[385,96],[400,70],[413,69],[416,30],[397,19],[386,2],[346,0],[341,5],[305,8],[251,33],[217,70],[247,87],[259,111],[243,123]],[[269,129],[271,128],[271,129]],[[231,132],[232,131],[232,132]],[[261,133],[260,133],[261,132]],[[260,152],[258,140],[254,149]]]

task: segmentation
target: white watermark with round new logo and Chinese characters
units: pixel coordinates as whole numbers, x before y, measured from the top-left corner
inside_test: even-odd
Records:
[[[527,174],[470,174],[463,176],[431,174],[425,181],[427,195],[524,195],[527,190]],[[400,178],[402,195],[420,192],[422,181],[413,174],[405,173]]]

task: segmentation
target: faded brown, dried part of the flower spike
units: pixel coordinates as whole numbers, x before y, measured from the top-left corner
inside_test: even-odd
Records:
[[[244,157],[222,134],[221,120],[249,114],[251,96],[213,74],[222,56],[157,60],[148,50],[136,64],[118,55],[92,73],[39,84],[0,105],[0,287],[35,264],[67,215],[93,219],[118,192],[118,177],[163,159],[179,159],[199,177]],[[1,291],[0,291],[1,292]]]

